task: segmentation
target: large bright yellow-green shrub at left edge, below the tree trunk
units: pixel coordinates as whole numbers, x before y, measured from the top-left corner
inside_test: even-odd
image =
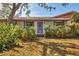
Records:
[[[13,24],[0,24],[0,50],[16,46],[19,27]]]

